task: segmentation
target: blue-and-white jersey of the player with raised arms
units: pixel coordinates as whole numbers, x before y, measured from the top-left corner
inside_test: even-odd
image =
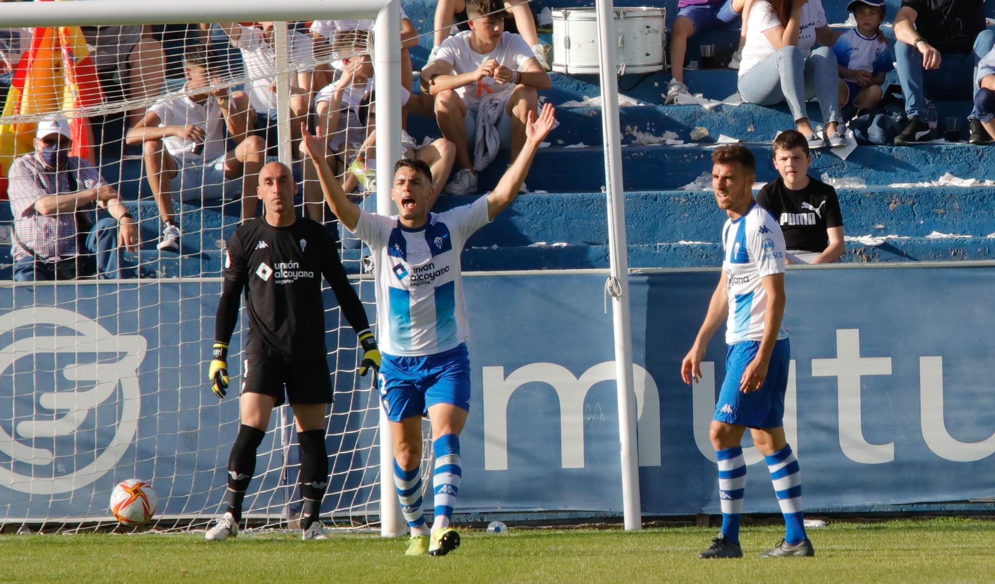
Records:
[[[418,229],[402,226],[396,216],[360,212],[355,234],[373,252],[380,351],[426,357],[467,341],[460,253],[490,220],[486,196],[429,214]]]

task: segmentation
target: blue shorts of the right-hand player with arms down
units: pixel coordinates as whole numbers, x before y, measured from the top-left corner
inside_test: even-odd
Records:
[[[784,392],[788,388],[788,364],[791,346],[787,339],[774,344],[767,376],[756,391],[739,390],[746,365],[756,357],[759,341],[742,341],[730,345],[725,355],[725,379],[715,401],[712,419],[749,428],[779,428],[784,425]]]

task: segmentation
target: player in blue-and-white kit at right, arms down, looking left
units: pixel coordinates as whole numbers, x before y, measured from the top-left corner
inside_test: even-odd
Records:
[[[725,379],[708,431],[718,460],[722,530],[697,557],[742,557],[739,518],[746,463],[739,444],[746,428],[766,459],[786,527],[784,539],[761,555],[815,555],[805,534],[798,460],[784,438],[782,422],[790,359],[788,333],[781,323],[784,236],[777,220],[753,201],[753,154],[736,144],[716,148],[711,160],[715,202],[729,216],[722,227],[725,257],[695,345],[681,363],[681,376],[689,384],[700,378],[704,351],[727,317]]]

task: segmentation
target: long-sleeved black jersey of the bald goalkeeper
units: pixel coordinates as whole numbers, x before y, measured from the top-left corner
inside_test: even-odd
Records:
[[[299,217],[286,227],[275,227],[264,218],[239,227],[225,250],[225,290],[215,339],[227,342],[231,338],[238,318],[238,294],[245,288],[246,353],[294,360],[324,358],[322,276],[352,328],[356,332],[369,328],[338,259],[336,243],[320,223]],[[226,297],[234,311],[226,306]]]

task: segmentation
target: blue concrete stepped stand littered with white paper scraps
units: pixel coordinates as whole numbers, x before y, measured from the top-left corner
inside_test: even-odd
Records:
[[[677,14],[677,0],[651,0],[646,3],[667,9],[668,24]],[[888,0],[889,22],[898,0]],[[582,6],[576,0],[536,0],[532,11],[542,8]],[[824,0],[828,21],[834,27],[848,17],[845,0]],[[434,2],[408,0],[404,9],[422,35],[420,45],[410,50],[415,71],[419,71],[432,49]],[[995,3],[986,6],[995,17]],[[989,22],[992,22],[989,20]],[[991,28],[991,27],[990,27]],[[890,26],[883,28],[890,44],[895,37]],[[541,33],[544,43],[551,35]],[[698,47],[714,45],[717,61],[723,63],[735,50],[738,31],[708,32],[689,43],[688,59],[698,59]],[[164,49],[170,72],[178,72],[177,41],[166,37]],[[221,59],[241,67],[237,51],[212,43]],[[464,266],[468,270],[552,269],[608,266],[607,226],[604,184],[603,144],[597,107],[585,105],[600,94],[596,75],[550,73],[553,86],[540,92],[560,106],[560,125],[549,136],[527,178],[530,195],[520,197],[508,213],[481,229],[469,242]],[[621,107],[624,135],[621,137],[628,242],[632,267],[713,266],[720,261],[716,225],[722,218],[714,210],[710,191],[696,180],[710,169],[709,146],[728,136],[743,142],[758,159],[757,181],[767,182],[777,175],[771,164],[771,145],[776,132],[792,127],[785,105],[761,107],[752,104],[722,104],[714,109],[699,105],[663,105],[668,72],[625,74],[620,92],[645,105]],[[724,68],[688,70],[686,83],[693,93],[710,99],[724,99],[735,93],[736,72]],[[167,79],[167,84],[177,82]],[[179,81],[181,82],[181,81]],[[896,73],[888,74],[886,86],[896,83]],[[417,83],[416,83],[417,86]],[[969,100],[940,101],[938,117],[965,118],[972,107]],[[808,103],[813,124],[821,124],[817,103]],[[158,213],[142,178],[141,161],[120,158],[120,121],[95,125],[107,136],[99,153],[104,178],[118,186],[134,217],[140,218],[142,246],[138,260],[142,276],[217,276],[222,269],[221,240],[233,232],[239,218],[238,203],[190,207],[184,205],[182,255],[155,249]],[[408,120],[408,132],[421,141],[426,135],[440,134],[435,121],[417,116]],[[101,136],[95,136],[101,142]],[[664,144],[667,138],[683,140],[682,147]],[[966,132],[964,138],[966,139]],[[113,141],[116,140],[116,141]],[[690,145],[696,144],[696,145]],[[480,175],[480,189],[486,191],[508,163],[507,153]],[[993,212],[990,201],[995,186],[954,186],[956,181],[939,181],[949,173],[958,179],[995,179],[992,172],[995,150],[967,144],[927,144],[909,147],[857,146],[846,160],[829,149],[813,153],[812,176],[828,174],[837,183],[849,240],[845,262],[889,262],[911,260],[995,259]],[[933,186],[918,186],[939,181]],[[688,190],[686,185],[695,184]],[[911,185],[893,187],[893,185]],[[474,197],[441,197],[437,211],[469,203]],[[563,220],[572,218],[569,222]],[[10,207],[0,203],[0,235],[11,222]],[[995,233],[993,233],[995,234]],[[949,235],[957,235],[951,237]],[[561,245],[564,244],[564,245]],[[356,260],[360,249],[347,249],[344,259]],[[352,254],[352,257],[349,255]],[[133,263],[135,257],[131,256]],[[0,279],[10,279],[12,259],[9,245],[0,247]],[[358,262],[346,265],[355,269]]]

